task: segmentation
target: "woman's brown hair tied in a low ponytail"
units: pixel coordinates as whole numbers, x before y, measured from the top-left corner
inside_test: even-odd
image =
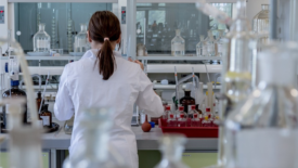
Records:
[[[109,11],[95,12],[90,18],[88,30],[93,41],[102,43],[94,65],[100,62],[99,72],[107,80],[117,66],[111,42],[118,40],[121,35],[119,20]]]

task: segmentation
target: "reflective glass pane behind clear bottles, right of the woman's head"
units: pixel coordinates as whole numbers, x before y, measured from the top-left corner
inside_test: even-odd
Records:
[[[217,4],[232,15],[233,3]],[[137,43],[145,43],[148,55],[174,55],[171,41],[177,36],[176,30],[180,29],[180,37],[184,39],[184,54],[176,55],[197,55],[196,46],[200,35],[207,37],[209,29],[225,29],[210,24],[211,20],[192,3],[138,3]]]

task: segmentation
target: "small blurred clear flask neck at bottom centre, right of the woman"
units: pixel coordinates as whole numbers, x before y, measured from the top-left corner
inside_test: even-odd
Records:
[[[189,168],[181,160],[186,139],[182,134],[164,134],[159,140],[161,160],[154,168]]]

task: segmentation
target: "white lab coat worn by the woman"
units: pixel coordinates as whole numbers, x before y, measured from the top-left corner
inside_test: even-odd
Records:
[[[131,130],[133,104],[145,109],[152,117],[163,115],[163,104],[153,91],[153,85],[140,65],[131,63],[114,52],[116,70],[108,80],[103,80],[94,66],[98,50],[89,50],[81,60],[65,66],[60,79],[54,105],[59,120],[70,119],[75,115],[69,153],[80,144],[82,129],[77,120],[87,107],[114,107],[109,145],[116,148],[130,168],[139,167],[135,135]],[[141,129],[141,128],[140,128]]]

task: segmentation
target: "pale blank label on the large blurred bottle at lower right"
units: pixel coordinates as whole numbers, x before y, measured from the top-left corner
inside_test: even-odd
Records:
[[[298,131],[289,129],[251,129],[236,133],[235,167],[296,167]]]

